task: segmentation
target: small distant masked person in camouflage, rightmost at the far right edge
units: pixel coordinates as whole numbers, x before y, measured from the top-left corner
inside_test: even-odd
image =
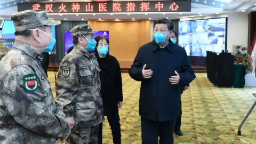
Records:
[[[245,66],[246,73],[251,74],[252,73],[252,57],[250,54],[247,54],[247,47],[242,48],[243,53],[243,65]]]

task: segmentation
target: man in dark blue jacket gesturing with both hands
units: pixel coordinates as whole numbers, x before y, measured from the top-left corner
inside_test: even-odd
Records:
[[[142,144],[173,143],[175,119],[180,115],[181,88],[195,79],[185,49],[171,42],[173,23],[154,23],[154,41],[140,47],[130,76],[141,81],[139,114]],[[153,73],[154,72],[154,73]]]

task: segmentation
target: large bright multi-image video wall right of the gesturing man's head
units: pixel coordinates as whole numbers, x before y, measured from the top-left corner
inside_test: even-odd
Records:
[[[179,21],[179,45],[189,56],[206,57],[206,51],[226,49],[226,18]]]

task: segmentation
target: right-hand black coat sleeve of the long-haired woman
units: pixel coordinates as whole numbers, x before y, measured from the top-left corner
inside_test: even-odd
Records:
[[[122,75],[121,75],[121,69],[120,65],[117,62],[117,67],[116,67],[116,84],[117,84],[117,102],[123,101],[123,84],[122,84]]]

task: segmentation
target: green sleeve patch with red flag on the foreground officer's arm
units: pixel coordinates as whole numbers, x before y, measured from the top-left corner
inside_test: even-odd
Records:
[[[36,74],[28,74],[22,78],[24,89],[28,92],[35,92],[38,88],[38,77]]]

